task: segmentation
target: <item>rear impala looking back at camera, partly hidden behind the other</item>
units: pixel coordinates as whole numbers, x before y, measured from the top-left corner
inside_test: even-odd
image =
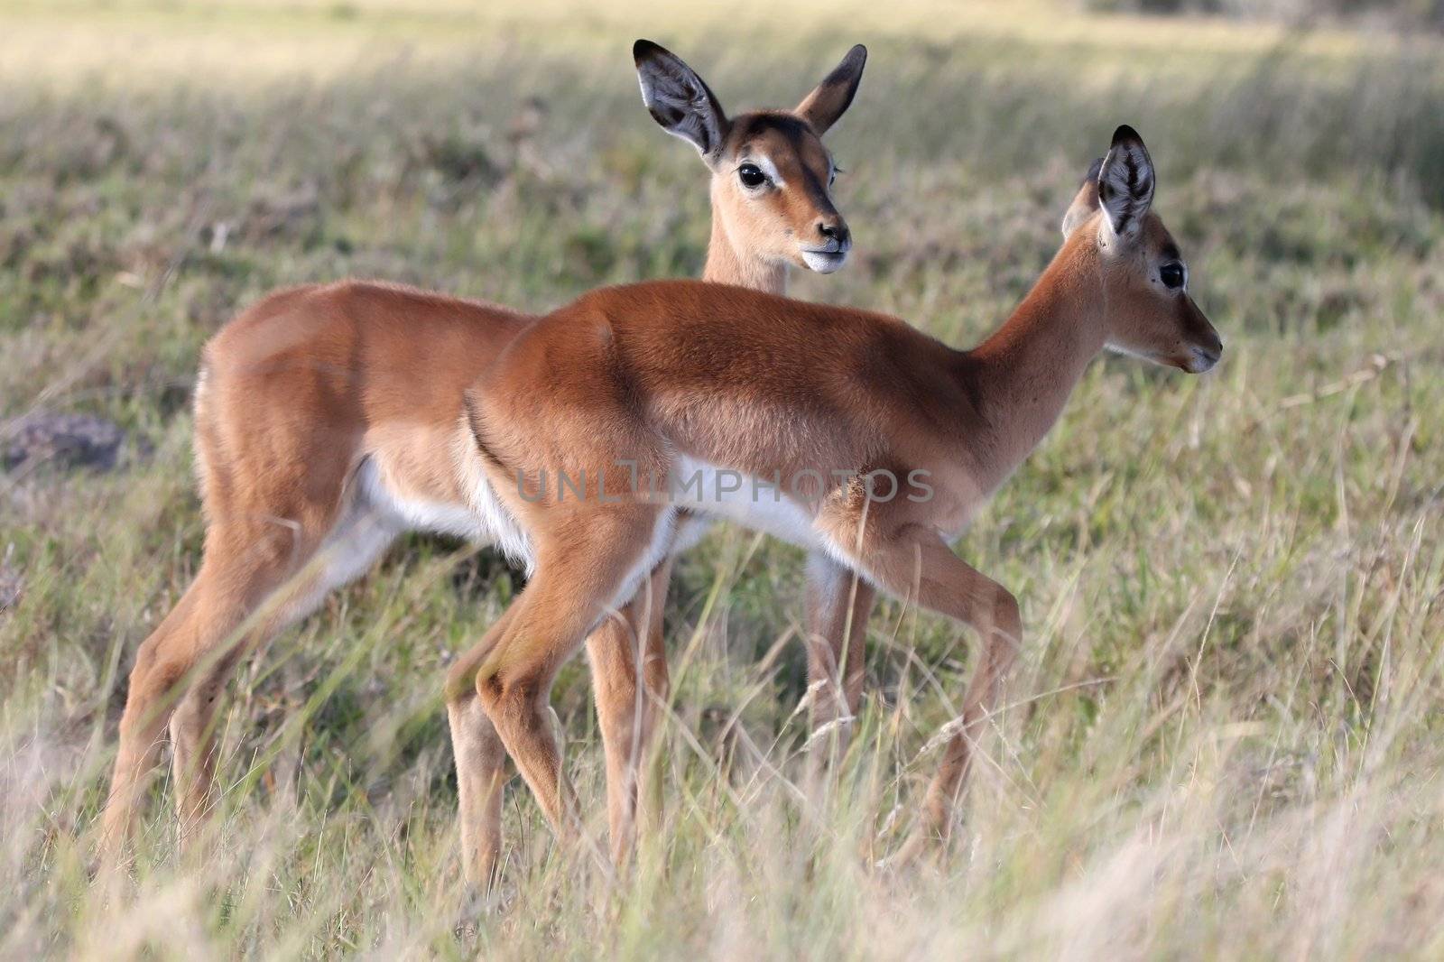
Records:
[[[852,240],[832,202],[820,137],[848,110],[866,51],[855,46],[797,108],[728,117],[708,85],[648,40],[634,46],[643,100],[710,170],[703,279],[781,293],[790,266],[833,272]],[[368,571],[407,530],[524,550],[475,458],[464,393],[534,316],[371,282],[274,293],[205,348],[195,393],[205,558],[146,638],[130,675],[103,819],[123,854],[169,725],[182,828],[206,815],[212,718],[237,663]],[[608,760],[612,842],[627,851],[637,761],[666,690],[658,555],[650,592],[588,625]],[[628,599],[622,599],[627,602]],[[638,690],[643,677],[654,696]],[[501,845],[505,750],[475,692],[448,699],[464,864],[484,878]]]

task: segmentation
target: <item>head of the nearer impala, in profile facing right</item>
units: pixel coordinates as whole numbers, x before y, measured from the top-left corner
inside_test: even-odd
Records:
[[[1188,296],[1188,266],[1152,211],[1154,163],[1132,127],[1113,131],[1063,218],[1066,246],[1093,254],[1108,347],[1201,374],[1223,342]]]

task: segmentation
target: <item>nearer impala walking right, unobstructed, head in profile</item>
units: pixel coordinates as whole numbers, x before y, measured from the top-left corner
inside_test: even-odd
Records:
[[[448,698],[479,696],[559,833],[573,813],[552,680],[700,514],[791,540],[978,631],[976,673],[914,844],[946,836],[970,744],[1022,640],[1014,595],[949,540],[1048,432],[1099,351],[1190,373],[1222,352],[1152,198],[1144,142],[1119,127],[1064,217],[1061,250],[969,351],[895,318],[692,282],[596,290],[507,345],[468,391],[456,451],[488,482],[474,491],[494,537],[534,575],[453,664]],[[570,485],[557,490],[562,475]]]

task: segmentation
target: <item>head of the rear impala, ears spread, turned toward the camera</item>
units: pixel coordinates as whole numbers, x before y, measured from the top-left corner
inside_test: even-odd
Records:
[[[728,117],[702,78],[651,40],[632,46],[641,98],[663,130],[712,170],[712,217],[744,257],[829,274],[852,235],[832,204],[838,168],[822,143],[858,92],[868,51],[858,45],[794,110]]]

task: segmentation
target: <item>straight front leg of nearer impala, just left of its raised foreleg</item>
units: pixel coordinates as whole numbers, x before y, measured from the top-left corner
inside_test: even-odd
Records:
[[[813,734],[829,729],[823,757],[842,757],[862,701],[872,585],[820,552],[807,558],[807,689]]]

